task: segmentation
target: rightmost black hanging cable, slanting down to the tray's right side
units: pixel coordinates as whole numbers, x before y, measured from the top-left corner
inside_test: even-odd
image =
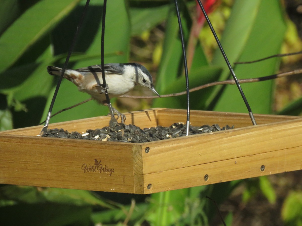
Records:
[[[248,111],[249,111],[249,116],[250,116],[250,118],[251,118],[251,120],[252,120],[252,123],[253,123],[253,125],[257,125],[257,123],[256,123],[256,121],[255,121],[255,117],[254,117],[254,115],[253,115],[253,113],[252,113],[252,109],[250,108],[249,103],[248,103],[247,100],[246,100],[246,97],[245,97],[245,95],[244,95],[244,93],[243,93],[243,90],[241,89],[241,86],[240,86],[240,84],[239,84],[239,82],[238,82],[238,79],[237,79],[237,77],[236,77],[236,75],[235,75],[235,73],[234,73],[234,71],[233,71],[233,68],[232,68],[232,66],[231,66],[231,64],[230,64],[230,61],[229,61],[228,58],[226,57],[226,54],[225,54],[225,52],[224,52],[224,50],[223,50],[223,48],[222,48],[222,46],[221,46],[221,43],[220,43],[220,41],[219,41],[219,39],[218,39],[218,37],[217,37],[217,35],[216,35],[216,32],[215,32],[215,30],[214,30],[214,28],[213,28],[213,26],[212,26],[212,24],[211,24],[211,22],[210,22],[210,19],[209,19],[209,17],[207,16],[207,13],[206,13],[206,11],[204,10],[204,7],[203,7],[201,1],[200,1],[200,0],[197,0],[197,1],[198,1],[198,4],[199,4],[200,8],[201,8],[201,11],[202,11],[203,14],[204,14],[204,17],[205,17],[206,20],[207,20],[207,23],[208,23],[208,25],[209,25],[209,27],[210,27],[210,29],[211,29],[213,35],[214,35],[214,38],[215,38],[215,40],[216,40],[216,42],[217,42],[217,44],[218,44],[218,47],[219,47],[219,49],[220,49],[220,51],[221,51],[221,53],[222,53],[222,55],[223,55],[223,58],[224,58],[224,60],[226,61],[226,65],[229,67],[229,70],[230,70],[230,72],[231,72],[231,74],[232,74],[232,76],[233,76],[233,79],[235,80],[235,83],[236,83],[236,85],[237,85],[237,87],[238,87],[238,89],[239,89],[239,92],[240,92],[240,94],[241,94],[241,96],[242,96],[242,98],[243,98],[243,101],[244,101],[244,103],[245,103],[245,105],[246,105],[246,108],[247,108]]]

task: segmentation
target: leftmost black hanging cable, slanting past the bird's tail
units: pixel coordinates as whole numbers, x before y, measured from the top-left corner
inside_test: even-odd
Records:
[[[78,24],[78,26],[77,26],[76,33],[75,33],[75,35],[74,35],[74,37],[73,37],[73,40],[72,40],[70,49],[69,49],[69,51],[68,51],[68,54],[67,54],[67,57],[66,57],[64,66],[63,66],[63,68],[62,68],[62,72],[61,72],[59,81],[58,81],[58,83],[57,83],[56,90],[55,90],[55,92],[54,92],[54,94],[53,94],[53,99],[51,100],[51,103],[50,103],[50,107],[49,107],[49,110],[48,110],[48,114],[47,114],[47,118],[46,118],[46,121],[45,121],[45,125],[43,126],[43,128],[42,128],[42,130],[41,130],[41,132],[40,132],[40,135],[41,135],[43,132],[46,132],[46,130],[47,130],[47,127],[48,127],[48,124],[49,124],[49,120],[50,120],[50,116],[51,116],[51,112],[52,112],[52,110],[53,110],[53,105],[54,105],[54,103],[55,103],[56,96],[57,96],[57,94],[58,94],[58,91],[59,91],[59,88],[60,88],[60,85],[61,85],[61,82],[62,82],[62,79],[63,79],[63,75],[64,75],[64,73],[65,73],[65,71],[66,71],[66,67],[67,67],[69,58],[70,58],[70,56],[71,56],[72,50],[73,50],[73,48],[74,48],[74,46],[75,46],[75,44],[76,44],[76,39],[77,39],[77,37],[78,37],[78,35],[79,35],[79,30],[80,30],[80,27],[81,27],[82,22],[83,22],[83,20],[84,20],[84,17],[85,17],[85,14],[86,14],[86,11],[87,11],[89,2],[90,2],[90,0],[87,0],[87,1],[86,1],[84,10],[83,10],[83,12],[82,12],[82,16],[81,16],[81,18],[80,18],[80,20],[79,20],[79,24]]]

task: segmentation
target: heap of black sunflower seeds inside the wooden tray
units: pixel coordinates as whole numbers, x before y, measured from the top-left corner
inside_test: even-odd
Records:
[[[226,125],[220,128],[218,124],[203,125],[200,127],[190,126],[189,135],[210,133],[220,130],[233,129]],[[184,123],[174,123],[169,127],[151,127],[144,128],[124,123],[116,123],[110,121],[109,126],[102,129],[86,130],[85,133],[71,132],[64,129],[47,129],[42,137],[58,137],[58,138],[72,138],[85,140],[103,140],[103,141],[120,141],[132,143],[144,143],[156,140],[165,140],[173,137],[182,137],[186,135],[186,125]]]

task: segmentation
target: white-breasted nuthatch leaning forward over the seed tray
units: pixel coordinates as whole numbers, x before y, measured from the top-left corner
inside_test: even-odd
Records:
[[[76,70],[66,69],[63,77],[78,86],[79,91],[88,93],[92,99],[104,105],[107,104],[104,94],[106,90],[109,98],[118,97],[128,93],[135,85],[145,86],[159,96],[154,89],[152,76],[141,64],[104,64],[104,71],[107,84],[105,88],[98,85],[95,80],[95,76],[97,76],[103,83],[101,65],[82,67]],[[61,75],[62,68],[48,66],[47,72],[51,75]],[[114,114],[118,117],[121,116],[122,122],[124,122],[125,116],[115,108],[113,110]]]

